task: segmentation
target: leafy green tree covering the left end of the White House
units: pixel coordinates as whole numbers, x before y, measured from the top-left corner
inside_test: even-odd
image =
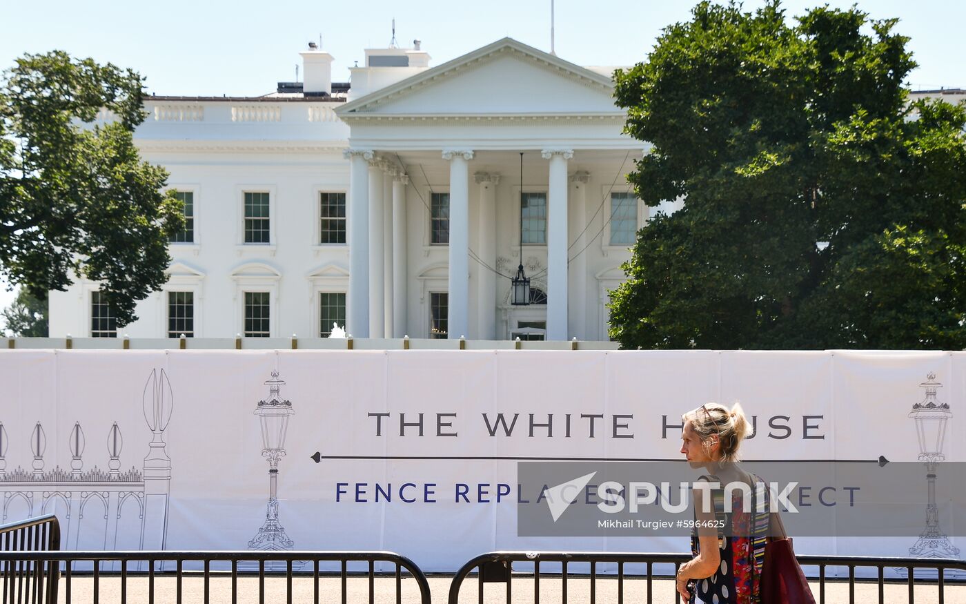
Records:
[[[99,281],[119,325],[164,283],[184,221],[133,144],[144,94],[137,73],[61,51],[0,80],[0,272],[40,300],[75,275]],[[101,109],[116,119],[95,124]]]

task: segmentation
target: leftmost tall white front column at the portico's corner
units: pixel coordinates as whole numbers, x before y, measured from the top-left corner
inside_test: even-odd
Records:
[[[371,150],[347,149],[349,159],[349,307],[346,332],[369,337],[369,164]],[[318,303],[318,302],[316,302]]]

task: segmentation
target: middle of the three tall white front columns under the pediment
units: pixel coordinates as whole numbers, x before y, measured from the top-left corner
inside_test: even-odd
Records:
[[[469,165],[472,151],[447,150],[449,161],[449,338],[469,330]],[[566,174],[564,175],[566,176]]]

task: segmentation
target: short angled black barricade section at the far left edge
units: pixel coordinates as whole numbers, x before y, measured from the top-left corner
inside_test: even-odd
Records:
[[[60,524],[47,514],[0,526],[0,550],[14,560],[0,562],[2,601],[56,602],[59,564],[54,561],[23,560],[14,552],[36,554],[60,549]],[[44,599],[48,594],[48,599]]]

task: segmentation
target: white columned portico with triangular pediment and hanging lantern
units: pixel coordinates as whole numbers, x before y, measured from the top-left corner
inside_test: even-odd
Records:
[[[394,197],[390,203],[384,199],[379,179],[392,181],[408,174],[416,187],[422,185],[430,194],[436,188],[448,192],[449,337],[507,337],[497,329],[497,308],[512,313],[506,301],[500,300],[504,292],[497,291],[497,265],[507,264],[498,261],[501,254],[518,255],[521,233],[514,224],[517,221],[498,220],[497,214],[499,206],[519,209],[520,202],[514,204],[513,199],[528,188],[546,193],[545,240],[525,242],[524,247],[540,254],[538,262],[543,266],[538,273],[545,275],[541,282],[546,283],[547,299],[545,313],[538,311],[535,321],[525,323],[546,322],[548,339],[568,339],[577,331],[585,332],[581,317],[570,317],[570,310],[582,310],[583,304],[569,308],[568,275],[576,271],[568,270],[568,253],[585,252],[571,245],[576,242],[570,235],[585,226],[586,187],[582,185],[589,182],[591,172],[574,170],[573,164],[593,166],[598,176],[616,180],[625,190],[622,171],[640,157],[640,143],[621,134],[624,113],[613,105],[612,92],[608,76],[504,39],[336,109],[350,128],[351,147],[346,154],[353,158],[350,180],[354,187],[349,214],[366,216],[369,221],[368,229],[356,224],[353,236],[366,231],[370,238],[367,249],[351,245],[353,302],[348,310],[348,331],[356,337],[399,337],[405,331],[401,326],[389,328],[398,323],[393,318],[407,314],[409,277],[400,269],[410,263],[398,255],[408,250],[401,243],[393,245],[393,261],[385,263],[382,242],[392,242],[406,231],[393,229],[399,220],[392,216],[398,216],[407,200]],[[521,153],[523,186],[517,176]],[[362,172],[368,174],[366,187],[358,176]],[[577,172],[579,176],[572,178]],[[429,175],[443,176],[440,186],[434,187]],[[509,199],[498,199],[501,182]],[[476,189],[472,195],[471,185]],[[575,199],[571,199],[571,188],[580,189],[574,191]],[[426,201],[422,194],[417,195],[419,199]],[[579,225],[569,224],[572,205],[578,210]],[[519,211],[506,210],[511,216]],[[380,232],[384,235],[377,243],[375,234]],[[433,251],[424,253],[429,256]],[[384,282],[380,278],[384,274],[389,275],[392,287],[384,289],[378,284]],[[366,283],[373,285],[368,291]],[[505,288],[507,279],[499,279],[499,285]],[[504,319],[507,322],[509,318]]]

